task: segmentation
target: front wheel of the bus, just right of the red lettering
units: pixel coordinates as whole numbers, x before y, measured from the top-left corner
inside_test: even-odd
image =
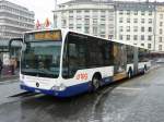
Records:
[[[101,86],[101,80],[97,76],[94,76],[92,80],[92,89],[93,91],[97,90]]]

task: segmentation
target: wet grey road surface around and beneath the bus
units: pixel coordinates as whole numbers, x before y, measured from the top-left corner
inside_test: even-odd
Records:
[[[17,81],[0,89],[0,122],[164,122],[164,66],[68,99],[23,93]]]

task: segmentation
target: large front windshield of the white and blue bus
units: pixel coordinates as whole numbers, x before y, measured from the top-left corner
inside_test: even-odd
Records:
[[[21,72],[25,75],[59,76],[61,41],[26,41],[22,52]]]

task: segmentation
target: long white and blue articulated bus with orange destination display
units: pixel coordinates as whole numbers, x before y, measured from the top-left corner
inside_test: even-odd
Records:
[[[27,32],[22,41],[20,81],[27,91],[70,97],[151,66],[148,49],[72,30]]]

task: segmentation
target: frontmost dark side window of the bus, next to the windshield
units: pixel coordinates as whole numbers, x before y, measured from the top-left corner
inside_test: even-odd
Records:
[[[68,36],[68,51],[65,52],[65,57],[68,56],[68,59],[63,58],[66,78],[72,78],[78,70],[86,69],[86,42],[84,39],[71,34]]]

